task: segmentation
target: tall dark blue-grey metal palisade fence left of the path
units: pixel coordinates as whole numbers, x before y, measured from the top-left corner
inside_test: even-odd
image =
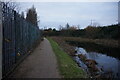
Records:
[[[16,64],[35,47],[42,33],[38,26],[26,21],[15,10],[4,3],[2,6],[2,77],[5,77]]]

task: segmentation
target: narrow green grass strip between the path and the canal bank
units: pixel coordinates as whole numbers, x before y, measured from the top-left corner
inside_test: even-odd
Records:
[[[47,38],[51,43],[53,51],[57,57],[58,68],[60,75],[63,78],[86,78],[87,74],[78,67],[78,65],[73,61],[73,59],[65,53],[59,45],[53,41],[51,38]]]

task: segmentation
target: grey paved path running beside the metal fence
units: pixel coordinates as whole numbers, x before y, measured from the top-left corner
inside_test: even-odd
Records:
[[[12,74],[14,78],[60,78],[57,61],[47,39]]]

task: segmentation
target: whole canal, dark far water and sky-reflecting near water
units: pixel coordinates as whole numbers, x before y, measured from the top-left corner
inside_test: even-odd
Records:
[[[75,46],[76,52],[73,58],[76,63],[89,74],[89,76],[120,78],[119,48],[106,47],[92,43],[67,43]],[[85,57],[85,61],[81,59],[83,57]],[[96,64],[92,65],[92,68],[92,63],[90,61],[96,62]],[[97,70],[94,71],[96,68]]]

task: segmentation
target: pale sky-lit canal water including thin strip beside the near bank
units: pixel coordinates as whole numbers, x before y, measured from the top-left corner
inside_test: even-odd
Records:
[[[102,74],[107,75],[107,73],[112,73],[112,78],[120,78],[120,60],[118,58],[108,56],[107,53],[99,53],[95,51],[87,51],[82,47],[76,47],[76,54],[83,54],[87,59],[95,60],[98,64],[98,68],[102,69]],[[88,72],[87,66],[79,59],[78,56],[75,56],[74,59],[76,62]]]

